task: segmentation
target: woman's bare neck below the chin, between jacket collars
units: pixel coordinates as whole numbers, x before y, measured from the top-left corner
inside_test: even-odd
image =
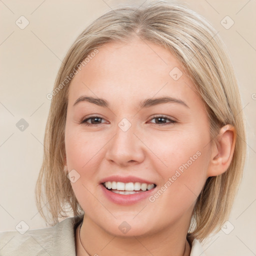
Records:
[[[190,223],[190,222],[189,222]],[[188,224],[189,224],[188,223]],[[188,225],[176,223],[153,234],[142,236],[114,236],[94,223],[88,216],[83,217],[76,230],[77,256],[189,256],[190,245],[186,240]]]

